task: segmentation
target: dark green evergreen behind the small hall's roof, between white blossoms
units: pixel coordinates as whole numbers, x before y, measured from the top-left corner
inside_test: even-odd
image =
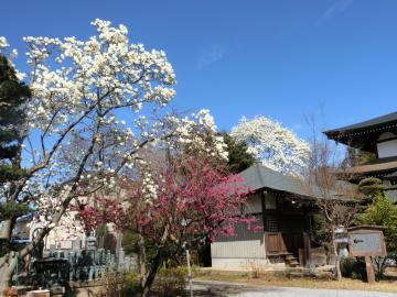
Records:
[[[240,173],[249,166],[254,165],[256,158],[254,155],[247,152],[247,143],[244,141],[236,141],[226,132],[222,132],[221,135],[224,138],[227,144],[228,152],[228,168],[232,173]]]

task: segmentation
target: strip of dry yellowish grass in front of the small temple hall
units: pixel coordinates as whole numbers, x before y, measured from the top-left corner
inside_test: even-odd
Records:
[[[342,282],[330,277],[309,277],[285,273],[266,272],[259,276],[249,272],[225,271],[197,271],[194,278],[203,280],[219,280],[229,283],[245,283],[248,285],[303,287],[303,288],[329,288],[346,290],[374,290],[397,293],[397,270],[387,272],[388,279],[369,285],[360,279],[344,278]]]

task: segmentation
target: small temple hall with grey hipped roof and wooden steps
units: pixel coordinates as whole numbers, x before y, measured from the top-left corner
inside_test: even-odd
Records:
[[[253,194],[244,213],[255,216],[260,230],[239,223],[236,235],[219,235],[211,244],[212,267],[221,270],[326,264],[323,248],[309,237],[316,198],[302,180],[255,164],[240,173]]]

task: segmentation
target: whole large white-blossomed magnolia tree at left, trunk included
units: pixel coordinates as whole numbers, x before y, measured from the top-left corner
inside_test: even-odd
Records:
[[[227,157],[222,138],[208,143],[196,133],[216,133],[207,110],[183,119],[164,110],[175,96],[175,75],[164,52],[130,44],[124,25],[114,28],[103,20],[92,24],[96,34],[87,41],[24,38],[31,66],[26,82],[33,96],[18,145],[26,175],[1,185],[0,202],[29,202],[44,228],[24,249],[8,246],[0,255],[1,293],[18,258],[31,253],[68,215],[69,204],[114,187],[116,176],[142,162],[139,153],[147,145],[194,142]],[[7,52],[7,46],[0,37],[0,51]],[[154,194],[148,190],[150,195]],[[10,241],[14,227],[15,218],[1,222],[2,242]]]

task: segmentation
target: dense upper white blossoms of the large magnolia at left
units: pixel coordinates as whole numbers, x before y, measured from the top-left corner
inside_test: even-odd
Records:
[[[32,128],[50,124],[47,133],[57,133],[54,129],[69,124],[94,105],[138,112],[142,103],[164,106],[175,96],[170,88],[175,75],[164,52],[129,44],[124,25],[111,28],[101,20],[93,25],[97,35],[88,41],[24,37],[35,98],[28,111],[29,119],[34,119]],[[51,63],[58,67],[54,70]]]

